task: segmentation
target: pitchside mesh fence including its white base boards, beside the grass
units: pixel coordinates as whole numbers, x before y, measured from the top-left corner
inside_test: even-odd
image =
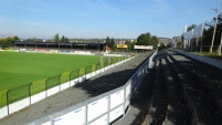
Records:
[[[127,59],[126,56],[108,58],[108,60],[105,60],[104,62],[72,71],[68,74],[65,73],[51,76],[41,84],[29,83],[2,91],[0,93],[0,118],[88,80],[96,74],[103,73],[128,60],[130,59]]]

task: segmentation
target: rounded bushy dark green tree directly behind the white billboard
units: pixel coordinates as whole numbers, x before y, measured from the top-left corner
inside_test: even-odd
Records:
[[[137,38],[137,45],[151,45],[150,33],[142,33]]]

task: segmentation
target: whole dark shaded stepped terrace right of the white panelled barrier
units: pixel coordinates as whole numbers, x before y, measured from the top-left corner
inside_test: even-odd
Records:
[[[220,90],[213,92],[209,88],[212,81],[207,81],[208,79],[193,70],[197,65],[192,64],[192,60],[162,50],[156,55],[155,66],[154,93],[144,124],[222,124],[221,96],[218,93]],[[216,83],[213,85],[218,85],[215,88],[221,87]]]

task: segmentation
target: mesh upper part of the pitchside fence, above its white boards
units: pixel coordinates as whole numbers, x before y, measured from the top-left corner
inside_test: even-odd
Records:
[[[101,70],[105,66],[118,63],[126,59],[127,59],[126,56],[107,58],[97,64],[88,65],[86,67],[82,67],[82,69],[74,70],[71,72],[65,72],[65,73],[62,73],[62,74],[59,74],[55,76],[51,76],[45,80],[42,80],[41,82],[33,82],[33,83],[24,84],[22,86],[1,91],[0,92],[0,110],[7,105],[19,102],[27,97],[30,98],[30,105],[31,105],[32,104],[31,96],[33,96],[35,94],[39,94],[43,91],[46,92],[55,86],[60,86],[59,91],[62,91],[61,85],[63,83],[70,82],[70,86],[72,86],[71,81],[73,81],[77,77],[84,76],[84,75],[86,79],[87,77],[86,75],[88,73],[92,73],[92,72]],[[80,80],[80,82],[82,82],[82,81],[83,80]],[[50,95],[47,95],[47,93],[45,93],[45,96],[50,96]],[[10,114],[9,110],[8,110],[8,114]]]

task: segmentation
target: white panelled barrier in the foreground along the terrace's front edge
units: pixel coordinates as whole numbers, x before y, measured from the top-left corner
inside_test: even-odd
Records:
[[[152,65],[154,52],[124,86],[27,125],[107,125],[126,115],[138,87]]]

